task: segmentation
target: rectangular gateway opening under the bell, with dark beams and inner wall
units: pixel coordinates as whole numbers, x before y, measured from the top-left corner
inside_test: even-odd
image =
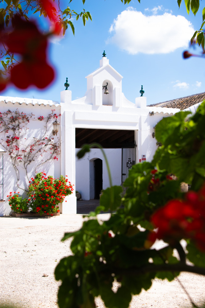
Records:
[[[76,152],[83,144],[98,142],[102,145],[110,165],[113,185],[122,184],[122,148],[128,143],[134,146],[134,140],[134,130],[75,129]],[[125,158],[131,158],[131,163],[135,164],[134,156]],[[123,173],[128,174],[128,171],[123,170]],[[76,189],[83,200],[99,199],[100,191],[109,186],[107,167],[100,149],[92,148],[82,159],[76,159]]]

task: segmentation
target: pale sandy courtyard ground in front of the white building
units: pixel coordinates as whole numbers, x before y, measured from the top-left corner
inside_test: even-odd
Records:
[[[100,214],[106,220],[109,214]],[[0,302],[21,307],[57,308],[60,282],[54,269],[62,257],[68,256],[70,240],[61,242],[65,232],[77,230],[82,215],[61,214],[56,217],[0,217]],[[48,275],[43,277],[43,275]],[[205,277],[183,273],[180,280],[196,304],[205,301]],[[100,298],[96,305],[104,308]],[[191,307],[179,283],[154,280],[147,292],[134,296],[131,308]]]

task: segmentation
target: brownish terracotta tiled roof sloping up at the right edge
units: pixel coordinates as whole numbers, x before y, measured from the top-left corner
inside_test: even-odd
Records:
[[[191,107],[197,103],[202,102],[205,99],[205,92],[194,94],[186,97],[181,97],[178,99],[169,100],[163,103],[157,103],[153,105],[149,105],[150,107],[166,107],[166,108],[179,108],[180,110],[184,110],[188,107]]]

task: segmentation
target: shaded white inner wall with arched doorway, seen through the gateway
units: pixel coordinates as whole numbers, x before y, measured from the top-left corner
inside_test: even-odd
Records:
[[[75,149],[76,153],[79,149]],[[104,149],[111,170],[112,184],[121,185],[122,149]],[[110,187],[107,167],[100,149],[91,149],[80,159],[76,157],[76,190],[83,200],[94,199],[94,164],[95,159],[102,160],[102,189]]]

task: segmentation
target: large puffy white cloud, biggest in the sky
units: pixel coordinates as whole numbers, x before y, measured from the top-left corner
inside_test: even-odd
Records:
[[[166,54],[188,47],[194,28],[180,15],[146,16],[129,8],[118,15],[109,32],[107,43],[114,43],[129,54]]]

